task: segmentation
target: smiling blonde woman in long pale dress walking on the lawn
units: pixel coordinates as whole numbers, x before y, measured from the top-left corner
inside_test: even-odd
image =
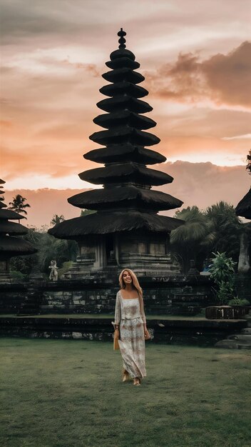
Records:
[[[150,338],[145,322],[142,288],[129,268],[119,276],[121,290],[116,296],[115,334],[123,358],[123,382],[130,376],[140,385],[145,372],[145,338]]]

